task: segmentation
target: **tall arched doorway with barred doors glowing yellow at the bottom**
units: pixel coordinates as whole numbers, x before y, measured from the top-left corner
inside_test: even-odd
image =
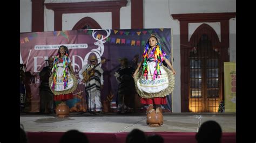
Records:
[[[219,39],[211,26],[200,25],[193,33],[190,46],[188,110],[218,112],[222,99],[222,75]]]

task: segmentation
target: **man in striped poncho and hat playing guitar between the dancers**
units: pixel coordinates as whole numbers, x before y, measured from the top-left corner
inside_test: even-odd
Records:
[[[95,55],[91,55],[89,61],[90,64],[83,66],[78,75],[85,84],[88,109],[93,112],[103,113],[100,90],[103,89],[104,71],[97,65],[98,60]]]

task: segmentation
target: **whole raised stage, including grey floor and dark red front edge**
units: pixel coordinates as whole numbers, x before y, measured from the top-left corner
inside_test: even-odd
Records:
[[[117,115],[105,113],[71,113],[70,117],[59,118],[54,114],[23,113],[20,121],[28,133],[30,143],[58,142],[71,129],[84,132],[92,142],[125,142],[127,133],[139,128],[147,135],[160,134],[165,142],[195,142],[194,135],[200,124],[207,120],[217,121],[223,131],[223,143],[235,142],[235,113],[164,113],[164,125],[146,125],[146,114],[133,113]]]

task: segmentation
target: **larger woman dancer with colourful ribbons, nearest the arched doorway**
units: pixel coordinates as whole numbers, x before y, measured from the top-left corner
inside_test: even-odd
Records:
[[[174,89],[176,71],[165,55],[157,36],[152,34],[144,48],[143,60],[133,74],[137,92],[142,97],[140,102],[149,105],[147,114],[160,113],[160,105],[167,104],[166,95],[171,94]],[[163,61],[171,70],[162,65]]]

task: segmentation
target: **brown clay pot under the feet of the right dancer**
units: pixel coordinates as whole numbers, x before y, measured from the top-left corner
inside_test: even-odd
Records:
[[[151,113],[147,113],[147,124],[150,126],[161,126],[163,125],[164,121],[163,121],[163,114],[160,113],[156,113],[155,111],[151,112]]]

